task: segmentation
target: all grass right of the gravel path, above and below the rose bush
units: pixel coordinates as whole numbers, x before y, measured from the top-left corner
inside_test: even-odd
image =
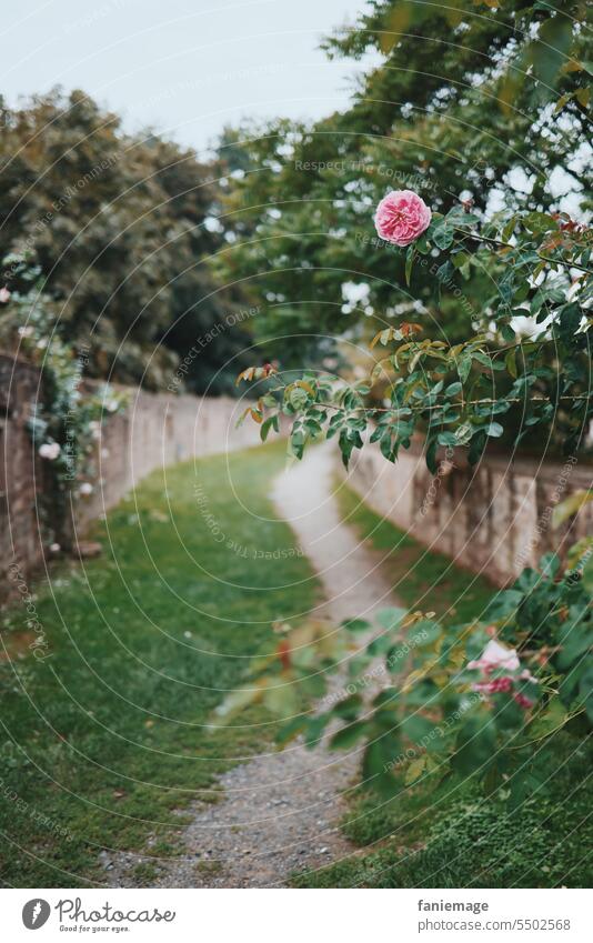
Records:
[[[341,485],[344,518],[385,556],[394,592],[411,609],[436,611],[445,622],[480,615],[495,592],[476,578],[360,503]],[[575,746],[577,746],[575,752]],[[384,801],[359,790],[342,830],[360,852],[293,879],[296,887],[590,886],[583,850],[591,846],[589,780],[592,750],[557,738],[559,773],[550,789],[510,811],[471,784],[405,786]]]

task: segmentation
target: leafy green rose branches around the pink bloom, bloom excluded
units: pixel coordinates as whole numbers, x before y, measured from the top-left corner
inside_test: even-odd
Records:
[[[275,379],[268,364],[251,368],[240,379],[267,384],[253,418],[262,438],[279,428],[281,413],[293,418],[292,454],[301,458],[308,441],[325,433],[338,437],[344,464],[364,442],[379,442],[395,461],[416,432],[426,435],[426,463],[436,473],[439,449],[463,448],[472,464],[489,439],[512,420],[515,444],[534,427],[552,427],[566,452],[582,445],[593,415],[591,399],[591,232],[561,214],[496,214],[480,225],[462,208],[434,213],[429,228],[408,249],[408,280],[414,265],[430,259],[443,283],[456,270],[500,265],[497,295],[492,300],[490,329],[450,343],[420,339],[419,323],[402,321],[384,328],[373,343],[394,345],[376,362],[369,381],[346,383],[335,375],[305,371],[300,378]],[[531,319],[525,334],[517,318]],[[388,385],[379,404],[366,404],[375,379]],[[265,418],[264,418],[265,417]],[[370,431],[370,437],[366,432]],[[542,440],[545,443],[546,437]]]

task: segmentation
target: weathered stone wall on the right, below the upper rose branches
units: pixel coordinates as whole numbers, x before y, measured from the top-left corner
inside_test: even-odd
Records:
[[[433,478],[420,443],[401,452],[394,465],[366,445],[349,475],[350,485],[378,513],[501,585],[547,550],[562,550],[593,532],[591,503],[557,530],[551,526],[555,504],[592,481],[591,464],[574,458],[537,464],[488,454],[476,469],[462,455],[444,458]]]

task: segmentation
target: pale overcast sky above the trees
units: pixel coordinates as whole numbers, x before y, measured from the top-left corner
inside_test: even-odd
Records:
[[[352,62],[323,33],[364,0],[13,0],[2,10],[1,91],[81,88],[203,149],[243,116],[316,118],[344,108]]]

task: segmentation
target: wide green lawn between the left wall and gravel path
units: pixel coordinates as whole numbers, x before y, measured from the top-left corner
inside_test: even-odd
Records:
[[[58,564],[53,598],[34,588],[47,661],[23,644],[22,608],[4,613],[2,640],[19,654],[0,665],[3,885],[100,883],[102,849],[153,854],[149,835],[174,855],[184,820],[173,810],[217,801],[214,776],[272,742],[274,723],[259,709],[233,729],[204,723],[274,644],[271,621],[319,592],[267,496],[284,450],[213,457],[142,482],[93,529],[101,558]],[[153,870],[139,867],[150,883]]]

